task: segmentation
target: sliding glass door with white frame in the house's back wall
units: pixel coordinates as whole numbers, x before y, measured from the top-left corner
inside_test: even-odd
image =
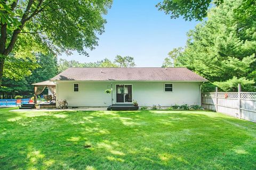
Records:
[[[116,103],[132,103],[131,84],[116,84]]]

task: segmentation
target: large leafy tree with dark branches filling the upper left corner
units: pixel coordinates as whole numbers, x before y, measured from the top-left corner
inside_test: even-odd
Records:
[[[111,0],[0,0],[0,84],[7,56],[22,58],[33,52],[77,50],[97,46]]]

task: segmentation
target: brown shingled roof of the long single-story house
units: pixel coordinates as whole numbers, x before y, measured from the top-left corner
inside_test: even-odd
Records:
[[[207,81],[186,68],[69,68],[54,80],[81,81]]]

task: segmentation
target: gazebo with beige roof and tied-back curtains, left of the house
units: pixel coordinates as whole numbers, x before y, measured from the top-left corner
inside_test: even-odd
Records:
[[[42,81],[39,83],[34,83],[32,84],[34,85],[34,91],[35,91],[35,96],[34,96],[34,103],[37,103],[37,95],[40,95],[44,89],[47,87],[53,94],[53,96],[55,96],[56,94],[56,87],[55,87],[55,83],[52,81]]]

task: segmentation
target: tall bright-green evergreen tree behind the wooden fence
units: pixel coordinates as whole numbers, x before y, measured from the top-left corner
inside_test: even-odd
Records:
[[[234,9],[241,3],[229,0],[212,8],[208,20],[188,32],[187,46],[177,58],[225,91],[236,90],[238,83],[244,90],[256,90],[256,22],[237,23]],[[210,90],[212,86],[205,84]]]

